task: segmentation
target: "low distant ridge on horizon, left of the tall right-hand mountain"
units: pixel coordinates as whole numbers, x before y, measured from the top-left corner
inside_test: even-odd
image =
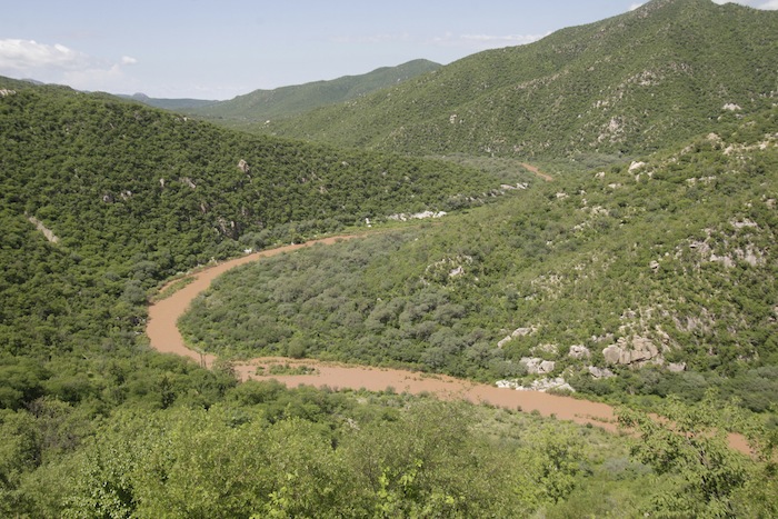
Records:
[[[343,76],[331,81],[255,90],[229,101],[203,107],[181,107],[180,111],[208,119],[221,119],[228,126],[289,117],[328,104],[352,100],[377,90],[393,87],[426,74],[441,66],[427,60],[413,60],[397,67],[382,67],[360,76]],[[167,108],[167,107],[160,107]],[[189,108],[194,108],[190,110]],[[176,108],[174,108],[176,109]]]

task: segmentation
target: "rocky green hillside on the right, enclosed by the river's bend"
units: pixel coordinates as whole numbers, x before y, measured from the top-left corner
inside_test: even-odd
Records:
[[[491,381],[541,358],[590,393],[698,400],[715,386],[767,410],[778,399],[777,114],[640,164],[517,190],[442,226],[246,266],[196,301],[181,328],[227,356]],[[607,365],[605,348],[632,350],[636,339],[657,355]],[[589,353],[570,357],[572,346]],[[595,379],[589,366],[618,377]]]

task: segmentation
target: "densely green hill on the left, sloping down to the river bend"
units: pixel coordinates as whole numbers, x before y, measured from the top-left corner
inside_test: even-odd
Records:
[[[110,359],[138,357],[141,378],[168,369],[146,352],[146,305],[177,272],[365,218],[478,203],[495,182],[0,79],[0,408],[42,397],[110,407],[98,395],[113,383]]]

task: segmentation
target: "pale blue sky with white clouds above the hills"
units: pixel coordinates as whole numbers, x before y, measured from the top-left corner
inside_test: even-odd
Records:
[[[725,0],[715,0],[725,3]],[[14,0],[0,10],[0,76],[153,98],[448,64],[640,6],[636,0]],[[778,0],[739,0],[778,9]]]

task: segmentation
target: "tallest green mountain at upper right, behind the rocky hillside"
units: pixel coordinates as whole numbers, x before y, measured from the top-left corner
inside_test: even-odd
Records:
[[[778,11],[652,0],[257,131],[409,153],[631,154],[776,97]]]

